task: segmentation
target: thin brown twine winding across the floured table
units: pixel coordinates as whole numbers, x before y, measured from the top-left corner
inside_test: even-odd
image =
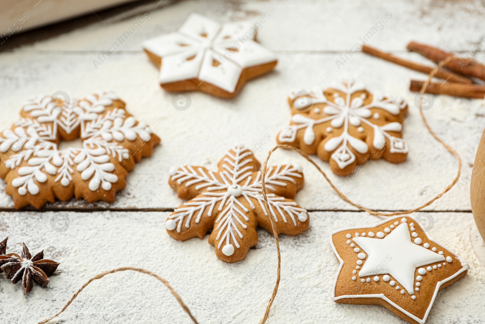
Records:
[[[431,82],[431,79],[436,74],[436,72],[438,71],[438,69],[441,68],[446,63],[450,62],[450,60],[452,58],[454,58],[454,56],[448,56],[446,59],[444,59],[443,61],[441,61],[430,72],[430,74],[428,75],[428,80],[426,80],[426,82],[424,82],[423,86],[421,87],[421,90],[420,90],[420,96],[421,97],[424,95],[424,91],[425,91],[426,87]],[[458,159],[458,173],[457,173],[456,177],[453,179],[453,182],[450,185],[448,185],[448,187],[446,187],[443,190],[443,192],[441,192],[440,194],[436,195],[436,197],[434,197],[433,199],[431,199],[430,201],[428,201],[424,205],[421,205],[420,207],[417,207],[417,208],[414,208],[414,209],[410,209],[410,210],[406,210],[406,211],[400,211],[400,212],[393,212],[393,213],[381,213],[381,212],[374,211],[374,210],[371,210],[369,208],[366,208],[364,206],[358,205],[358,204],[354,203],[353,201],[351,201],[349,198],[347,198],[347,196],[345,196],[337,187],[335,187],[335,185],[332,183],[332,181],[330,181],[330,179],[328,178],[328,176],[326,175],[326,173],[324,171],[322,171],[322,169],[320,169],[320,167],[308,156],[307,153],[305,153],[305,152],[303,152],[300,149],[297,149],[295,147],[289,146],[289,145],[276,145],[273,149],[270,150],[270,152],[268,152],[268,156],[266,157],[266,160],[264,161],[264,164],[263,164],[263,170],[262,170],[262,174],[261,174],[261,187],[262,187],[262,193],[263,193],[263,198],[264,198],[264,202],[265,202],[266,212],[267,212],[268,217],[269,217],[269,219],[271,221],[271,227],[273,229],[273,236],[275,237],[276,254],[278,256],[278,267],[277,267],[277,270],[276,270],[276,283],[275,283],[275,288],[273,289],[273,292],[271,294],[271,298],[268,301],[268,305],[266,306],[266,310],[264,311],[264,315],[261,318],[261,321],[259,322],[259,324],[264,324],[266,322],[266,320],[268,319],[268,315],[269,315],[271,306],[273,305],[273,302],[275,300],[276,294],[278,292],[279,282],[280,282],[280,279],[281,279],[281,276],[280,276],[280,273],[281,273],[281,255],[280,255],[280,251],[279,251],[279,239],[278,239],[278,235],[276,235],[276,224],[275,224],[275,220],[273,219],[273,217],[270,216],[270,215],[272,215],[272,213],[271,213],[270,208],[269,208],[268,198],[266,197],[266,184],[265,184],[265,181],[264,181],[265,174],[266,174],[266,168],[267,168],[267,164],[268,164],[268,160],[269,160],[271,154],[273,152],[275,152],[279,148],[283,148],[283,149],[286,149],[286,150],[293,150],[296,153],[299,153],[301,156],[303,156],[304,158],[306,158],[308,162],[310,162],[311,164],[313,164],[315,166],[315,168],[317,168],[317,170],[320,171],[320,173],[322,173],[323,177],[328,182],[328,184],[330,185],[330,187],[332,187],[332,189],[334,189],[335,192],[337,192],[337,194],[339,195],[339,197],[342,200],[346,201],[350,205],[353,205],[353,206],[355,206],[355,207],[357,207],[357,208],[359,208],[359,209],[361,209],[363,211],[368,212],[371,215],[374,215],[374,216],[394,216],[394,215],[404,215],[404,214],[413,213],[413,212],[416,212],[416,211],[418,211],[418,210],[420,210],[420,209],[422,209],[422,208],[424,208],[424,207],[426,207],[428,205],[431,205],[436,199],[439,199],[447,191],[449,191],[456,184],[456,182],[458,182],[458,179],[460,177],[460,172],[461,172],[461,164],[462,164],[461,163],[461,157],[460,157],[460,155],[451,146],[449,146],[447,143],[445,143],[444,141],[442,141],[438,136],[436,136],[435,132],[433,132],[433,130],[429,126],[428,121],[424,117],[424,113],[422,111],[422,103],[421,103],[421,101],[420,101],[420,114],[421,114],[421,118],[423,119],[424,124],[426,125],[426,128],[428,129],[429,133],[439,143],[441,143],[441,145],[443,145],[448,150],[448,152],[452,153]],[[172,293],[172,295],[174,295],[174,297],[177,299],[177,301],[180,304],[180,306],[182,306],[183,310],[185,310],[185,312],[187,314],[189,314],[189,316],[192,319],[192,321],[195,324],[198,324],[197,321],[195,320],[194,316],[192,316],[192,314],[191,314],[191,312],[189,310],[189,307],[187,307],[184,304],[184,302],[182,301],[182,298],[180,298],[180,296],[177,294],[177,292],[170,286],[170,284],[165,279],[163,279],[162,277],[160,277],[159,275],[157,275],[155,273],[152,273],[151,271],[148,271],[148,270],[145,270],[145,269],[132,268],[132,267],[117,268],[117,269],[113,269],[113,270],[110,270],[110,271],[107,271],[107,272],[99,273],[98,275],[96,275],[93,278],[89,279],[89,281],[86,282],[84,285],[82,285],[82,287],[78,291],[76,291],[76,293],[71,297],[71,299],[67,302],[67,304],[65,304],[65,306],[63,307],[63,309],[61,309],[60,312],[58,312],[54,316],[52,316],[52,317],[50,317],[50,318],[48,318],[46,320],[43,320],[43,321],[41,321],[41,322],[39,322],[37,324],[45,324],[45,323],[48,323],[50,320],[52,320],[53,318],[57,317],[62,312],[64,312],[65,309],[69,305],[71,305],[71,303],[73,302],[73,300],[79,295],[79,293],[84,288],[86,288],[92,281],[97,280],[97,279],[101,279],[102,277],[104,277],[105,275],[110,274],[110,273],[116,273],[116,272],[127,271],[127,270],[132,270],[132,271],[136,271],[136,272],[140,272],[140,273],[146,273],[146,274],[151,275],[152,277],[155,277],[158,280],[160,280],[165,285],[165,287],[167,287],[170,290],[170,292]]]

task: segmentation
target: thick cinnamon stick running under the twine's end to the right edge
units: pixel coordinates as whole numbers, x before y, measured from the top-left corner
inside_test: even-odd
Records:
[[[416,42],[410,42],[407,44],[409,51],[415,51],[422,56],[430,59],[438,64],[448,56],[453,56],[453,53],[440,50],[436,47],[420,44]],[[485,65],[471,59],[456,58],[445,64],[445,68],[448,68],[456,73],[467,75],[475,78],[479,78],[485,81]]]

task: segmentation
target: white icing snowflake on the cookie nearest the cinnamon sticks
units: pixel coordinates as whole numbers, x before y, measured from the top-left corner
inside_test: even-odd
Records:
[[[388,141],[390,144],[390,153],[407,153],[407,145],[402,138],[394,137],[388,134],[388,131],[401,132],[402,125],[399,122],[389,122],[382,126],[372,123],[370,119],[372,112],[370,108],[381,109],[390,114],[398,115],[406,106],[406,102],[398,97],[390,97],[384,99],[380,93],[375,93],[372,96],[372,102],[364,105],[362,97],[356,97],[351,101],[351,95],[359,90],[364,90],[365,86],[361,83],[347,81],[333,85],[332,88],[340,90],[344,93],[344,97],[340,97],[338,93],[334,94],[334,102],[327,100],[323,94],[323,89],[315,88],[309,94],[312,100],[308,100],[307,105],[315,103],[325,103],[323,112],[328,117],[322,119],[312,119],[302,114],[295,114],[291,117],[293,125],[285,127],[279,134],[280,142],[294,142],[296,133],[299,129],[305,129],[303,141],[306,145],[312,145],[315,142],[315,132],[313,127],[317,124],[330,124],[333,128],[344,127],[340,136],[330,138],[324,145],[327,152],[335,152],[331,158],[337,162],[340,169],[353,163],[356,159],[355,154],[352,153],[350,147],[358,153],[364,154],[369,151],[369,146],[359,138],[356,138],[349,133],[350,128],[356,128],[357,131],[363,132],[361,125],[365,124],[373,129],[372,145],[377,150],[382,150],[384,144]],[[297,92],[292,92],[290,99],[298,100]],[[305,106],[299,106],[299,109]],[[375,119],[379,119],[379,114],[374,114]],[[328,127],[331,128],[331,127]],[[327,133],[330,131],[327,128]]]

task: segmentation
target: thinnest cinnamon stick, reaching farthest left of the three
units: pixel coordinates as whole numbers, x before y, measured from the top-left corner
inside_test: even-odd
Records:
[[[383,52],[380,50],[377,50],[376,48],[370,47],[368,45],[362,45],[362,51],[367,54],[371,54],[376,57],[380,57],[383,60],[386,60],[388,62],[396,63],[400,66],[403,66],[404,68],[410,68],[412,70],[422,72],[429,74],[431,70],[433,69],[432,67],[428,67],[426,65],[422,65],[419,63],[414,63],[402,58],[399,58],[397,56],[392,55],[391,53],[388,52]],[[443,80],[448,80],[451,82],[458,82],[458,83],[472,83],[472,81],[468,78],[453,74],[451,72],[448,72],[442,68],[440,68],[436,74],[435,77],[438,79],[443,79]]]

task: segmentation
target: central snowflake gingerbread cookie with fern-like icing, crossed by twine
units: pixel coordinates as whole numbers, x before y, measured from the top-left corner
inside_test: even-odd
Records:
[[[307,232],[307,210],[292,200],[303,188],[301,166],[267,169],[270,216],[264,207],[260,164],[250,150],[235,146],[217,166],[217,172],[197,166],[170,169],[170,187],[179,198],[190,199],[167,218],[165,227],[171,237],[203,239],[212,230],[209,243],[215,246],[216,256],[232,263],[246,257],[249,248],[258,243],[258,225],[273,233],[269,217],[276,222],[277,234]]]

